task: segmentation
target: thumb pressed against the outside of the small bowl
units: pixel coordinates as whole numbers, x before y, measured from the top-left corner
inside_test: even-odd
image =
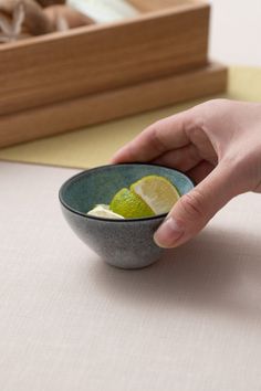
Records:
[[[219,163],[174,205],[154,235],[160,247],[176,247],[195,236],[239,191],[229,166]]]

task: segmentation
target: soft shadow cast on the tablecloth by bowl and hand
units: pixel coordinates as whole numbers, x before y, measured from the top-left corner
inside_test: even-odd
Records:
[[[166,251],[138,271],[93,263],[105,295],[126,305],[181,306],[226,316],[261,317],[261,243],[258,236],[207,228],[189,243]]]

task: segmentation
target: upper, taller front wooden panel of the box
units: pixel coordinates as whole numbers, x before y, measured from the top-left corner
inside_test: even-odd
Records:
[[[209,7],[142,15],[0,46],[0,115],[207,63]]]

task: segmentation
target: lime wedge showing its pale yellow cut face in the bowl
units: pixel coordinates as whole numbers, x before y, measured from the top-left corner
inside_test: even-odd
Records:
[[[147,176],[130,186],[130,191],[153,210],[155,214],[168,213],[180,194],[165,177]]]

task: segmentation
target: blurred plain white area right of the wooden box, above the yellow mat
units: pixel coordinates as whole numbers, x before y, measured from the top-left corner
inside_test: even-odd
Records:
[[[231,65],[261,65],[261,1],[209,0],[210,57]]]

